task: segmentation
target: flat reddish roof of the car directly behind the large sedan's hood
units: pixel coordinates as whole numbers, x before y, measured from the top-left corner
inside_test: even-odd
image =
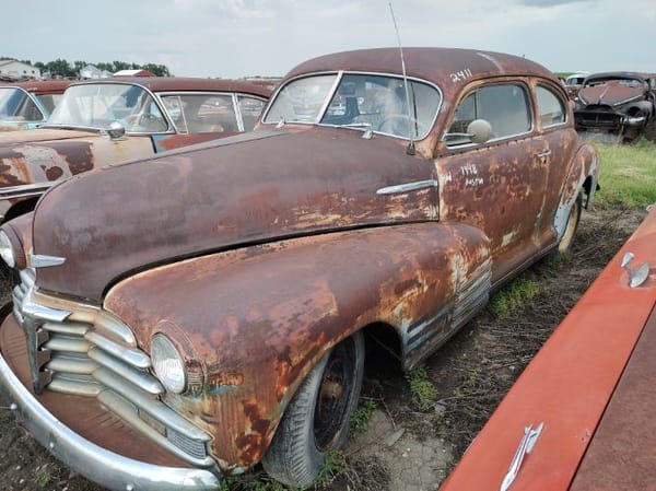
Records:
[[[96,83],[128,83],[142,85],[153,92],[180,92],[180,91],[216,91],[239,92],[245,94],[270,97],[271,90],[243,80],[230,79],[202,79],[194,77],[115,77],[80,81],[75,85]]]

